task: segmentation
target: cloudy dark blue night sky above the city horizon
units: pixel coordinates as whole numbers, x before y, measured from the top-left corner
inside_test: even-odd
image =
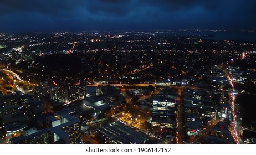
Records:
[[[1,0],[0,32],[255,29],[255,0]]]

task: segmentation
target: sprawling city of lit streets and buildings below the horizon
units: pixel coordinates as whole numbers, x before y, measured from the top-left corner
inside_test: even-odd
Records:
[[[0,33],[0,143],[255,143],[256,39],[231,33],[256,32]]]

